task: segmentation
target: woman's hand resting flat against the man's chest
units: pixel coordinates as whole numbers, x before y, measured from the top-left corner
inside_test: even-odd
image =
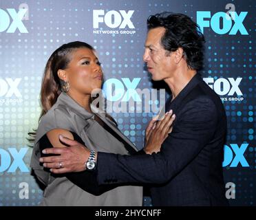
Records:
[[[144,151],[147,154],[158,153],[160,151],[162,142],[168,137],[173,129],[173,121],[175,120],[175,114],[170,110],[165,113],[164,118],[157,120],[153,118],[147,126],[145,132],[145,147]]]

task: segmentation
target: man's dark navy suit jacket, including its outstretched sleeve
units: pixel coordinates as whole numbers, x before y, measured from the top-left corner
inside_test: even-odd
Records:
[[[99,184],[151,185],[153,206],[227,206],[222,161],[226,114],[198,74],[166,109],[176,115],[173,131],[152,155],[98,153]]]

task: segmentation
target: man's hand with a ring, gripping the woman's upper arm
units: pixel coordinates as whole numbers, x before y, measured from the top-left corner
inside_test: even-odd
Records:
[[[85,162],[89,158],[90,151],[75,140],[70,140],[63,135],[59,135],[59,140],[68,147],[65,148],[46,148],[45,154],[58,154],[58,156],[41,157],[40,162],[43,166],[50,168],[52,173],[81,172],[85,170]]]

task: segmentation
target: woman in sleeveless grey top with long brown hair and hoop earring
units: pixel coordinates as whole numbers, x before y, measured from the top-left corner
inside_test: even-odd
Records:
[[[102,83],[100,63],[87,43],[62,45],[47,61],[41,86],[43,110],[30,164],[46,186],[41,206],[142,206],[140,186],[96,186],[96,177],[89,172],[54,175],[39,162],[43,148],[66,147],[58,140],[59,135],[81,142],[90,150],[136,153],[136,147],[114,120],[91,104],[92,92]],[[86,186],[81,179],[87,179]]]

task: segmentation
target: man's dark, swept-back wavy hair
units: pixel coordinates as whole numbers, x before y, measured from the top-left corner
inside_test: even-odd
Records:
[[[204,35],[199,26],[185,14],[162,12],[147,19],[147,28],[165,28],[162,46],[167,56],[181,47],[190,69],[200,70],[204,63]]]

